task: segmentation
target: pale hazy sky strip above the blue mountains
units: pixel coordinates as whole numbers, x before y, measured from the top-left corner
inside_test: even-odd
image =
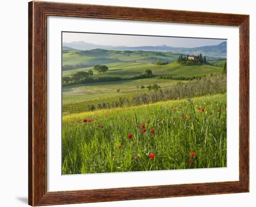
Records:
[[[206,45],[218,45],[226,40],[180,38],[159,36],[137,36],[120,34],[93,34],[93,33],[62,33],[63,42],[85,41],[96,45],[111,46],[158,46],[167,45],[172,47],[201,47]]]

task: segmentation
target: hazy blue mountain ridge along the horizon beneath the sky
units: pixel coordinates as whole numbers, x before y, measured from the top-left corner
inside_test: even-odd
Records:
[[[171,47],[167,45],[160,46],[141,46],[141,47],[127,47],[127,46],[104,46],[95,45],[92,43],[84,41],[74,41],[74,42],[63,42],[62,47],[69,47],[78,50],[92,50],[92,49],[112,49],[112,50],[141,50],[141,51],[154,51],[154,52],[172,52],[172,53],[182,53],[182,54],[193,54],[197,55],[202,53],[203,56],[211,57],[227,57],[227,42],[223,41],[218,45],[209,45],[202,47]]]

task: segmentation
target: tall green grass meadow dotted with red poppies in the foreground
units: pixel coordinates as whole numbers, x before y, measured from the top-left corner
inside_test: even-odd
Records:
[[[62,174],[226,167],[226,118],[226,94],[63,116]]]

